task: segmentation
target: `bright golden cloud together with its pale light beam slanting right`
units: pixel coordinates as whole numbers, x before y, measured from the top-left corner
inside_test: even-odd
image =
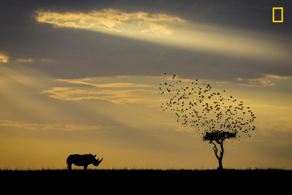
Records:
[[[275,41],[268,33],[194,23],[162,13],[123,12],[117,9],[63,13],[36,10],[35,18],[40,23],[54,27],[98,31],[187,51],[261,59],[265,62],[289,63],[291,60],[287,42]]]

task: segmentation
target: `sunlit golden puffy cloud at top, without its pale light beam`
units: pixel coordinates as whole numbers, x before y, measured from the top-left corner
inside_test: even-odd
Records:
[[[53,24],[55,27],[71,27],[81,29],[99,29],[115,32],[152,32],[155,34],[172,34],[169,22],[185,20],[167,14],[151,14],[148,12],[122,12],[116,9],[102,9],[82,12],[57,13],[36,11],[36,20]]]

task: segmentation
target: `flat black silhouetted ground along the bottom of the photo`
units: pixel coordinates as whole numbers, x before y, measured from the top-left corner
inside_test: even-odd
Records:
[[[225,193],[238,191],[263,192],[290,187],[292,170],[39,170],[0,171],[2,186],[25,186],[24,189],[83,189],[86,192],[112,191],[155,194],[209,193],[222,189]],[[223,192],[222,191],[222,192]],[[279,191],[279,192],[280,192]],[[207,193],[208,194],[208,193]]]

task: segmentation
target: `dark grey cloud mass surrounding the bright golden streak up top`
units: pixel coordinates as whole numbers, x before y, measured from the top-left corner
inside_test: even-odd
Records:
[[[272,23],[272,7],[284,7],[284,23]],[[33,17],[37,9],[88,12],[113,8],[167,13],[193,22],[291,36],[291,7],[288,1],[9,1],[0,8],[0,51],[9,55],[10,63],[17,58],[39,59],[25,66],[68,79],[164,72],[218,80],[259,78],[263,74],[291,76],[292,67],[287,63],[275,65],[275,62],[185,51],[86,30],[54,28],[37,23]],[[291,48],[289,40],[287,48]],[[41,63],[40,59],[54,61]],[[10,66],[17,68],[13,63]]]

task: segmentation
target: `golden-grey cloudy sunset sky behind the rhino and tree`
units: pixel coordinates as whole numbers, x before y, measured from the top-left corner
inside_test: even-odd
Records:
[[[176,94],[164,83],[194,82],[255,114],[250,137],[226,140],[223,167],[291,169],[291,10],[289,1],[1,1],[0,168],[66,168],[70,154],[103,157],[98,168],[216,168],[213,145],[161,107]]]

